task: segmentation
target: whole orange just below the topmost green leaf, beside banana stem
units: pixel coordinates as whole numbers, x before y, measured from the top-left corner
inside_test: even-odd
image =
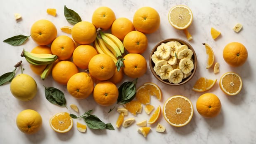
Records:
[[[88,21],[80,21],[73,26],[71,34],[78,44],[91,44],[96,39],[96,28]]]

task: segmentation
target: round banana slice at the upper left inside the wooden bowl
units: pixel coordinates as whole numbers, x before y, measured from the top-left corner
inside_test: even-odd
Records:
[[[154,52],[156,56],[159,56],[163,60],[168,60],[170,57],[170,46],[165,43],[160,44]]]

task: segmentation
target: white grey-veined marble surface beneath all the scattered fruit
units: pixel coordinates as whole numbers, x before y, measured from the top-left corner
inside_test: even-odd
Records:
[[[110,107],[101,107],[96,105],[92,96],[84,100],[76,100],[68,94],[66,86],[57,84],[51,77],[42,81],[40,77],[34,74],[25,59],[20,57],[23,48],[33,49],[36,44],[31,38],[21,46],[10,46],[4,42],[4,39],[14,35],[29,35],[31,25],[39,19],[48,19],[57,27],[58,35],[68,35],[62,33],[62,26],[70,25],[63,14],[64,5],[76,11],[83,21],[91,21],[93,11],[99,6],[110,7],[116,14],[116,17],[127,17],[132,20],[134,12],[140,7],[150,6],[160,14],[160,28],[148,37],[148,49],[143,56],[148,60],[149,53],[153,46],[159,41],[171,37],[177,37],[187,41],[184,33],[170,26],[167,14],[171,7],[175,5],[187,5],[191,8],[194,19],[192,25],[188,28],[193,36],[189,43],[194,47],[198,56],[198,69],[191,81],[182,86],[167,86],[159,81],[148,67],[146,74],[139,78],[137,86],[144,82],[154,82],[163,91],[163,100],[159,102],[155,98],[151,99],[151,105],[157,107],[163,104],[167,98],[172,95],[184,95],[189,98],[194,105],[194,116],[191,122],[181,128],[175,128],[169,125],[161,116],[159,123],[166,127],[166,132],[156,132],[156,124],[151,126],[151,132],[147,138],[138,134],[138,126],[134,123],[129,128],[115,128],[115,130],[91,130],[87,129],[85,133],[79,132],[74,127],[71,131],[60,134],[54,132],[49,125],[49,119],[56,113],[67,111],[76,114],[70,108],[62,108],[52,105],[45,99],[45,86],[59,88],[65,93],[67,105],[72,103],[79,107],[80,114],[89,109],[93,109],[93,114],[97,115],[106,123],[115,122],[118,117],[116,110],[108,111]],[[46,13],[47,8],[57,9],[57,16],[53,17]],[[14,13],[20,13],[22,19],[15,21]],[[0,49],[1,49],[1,69],[0,74],[10,72],[14,69],[19,60],[23,60],[24,73],[31,75],[38,84],[38,94],[29,102],[22,102],[14,98],[10,92],[10,83],[0,86],[0,143],[1,144],[66,144],[66,143],[89,143],[89,144],[131,144],[131,143],[172,143],[172,144],[255,144],[256,143],[256,89],[255,89],[255,33],[256,33],[256,1],[255,0],[7,0],[0,1]],[[232,27],[236,23],[242,23],[243,28],[239,33],[235,33]],[[218,39],[211,38],[211,27],[221,32]],[[70,36],[70,35],[68,35]],[[224,46],[229,42],[241,42],[249,52],[247,62],[241,67],[230,67],[225,63],[222,57]],[[214,74],[213,70],[206,70],[206,51],[202,43],[208,43],[215,52],[215,61],[220,63],[220,72]],[[203,118],[195,109],[197,98],[203,93],[197,93],[191,90],[192,86],[199,77],[209,79],[220,79],[225,72],[237,72],[243,79],[242,91],[236,96],[227,96],[219,88],[218,82],[207,91],[218,95],[222,103],[220,114],[211,119]],[[21,73],[20,70],[17,74]],[[124,81],[132,80],[128,77]],[[116,105],[118,107],[118,105]],[[38,111],[43,118],[42,129],[34,135],[25,135],[20,132],[16,126],[16,116],[24,109],[34,109]],[[134,117],[136,122],[149,119],[149,116],[143,110],[141,114],[128,117]],[[128,118],[126,117],[126,118]],[[74,120],[84,123],[82,120]]]

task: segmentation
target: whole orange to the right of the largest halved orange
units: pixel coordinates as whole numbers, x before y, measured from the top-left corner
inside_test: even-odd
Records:
[[[205,93],[197,99],[196,109],[201,116],[213,118],[220,113],[220,99],[213,93]]]

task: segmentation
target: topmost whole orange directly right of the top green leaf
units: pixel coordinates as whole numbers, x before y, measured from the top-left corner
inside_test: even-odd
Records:
[[[115,21],[115,13],[109,7],[98,7],[92,15],[91,22],[96,28],[102,30],[110,29]]]

